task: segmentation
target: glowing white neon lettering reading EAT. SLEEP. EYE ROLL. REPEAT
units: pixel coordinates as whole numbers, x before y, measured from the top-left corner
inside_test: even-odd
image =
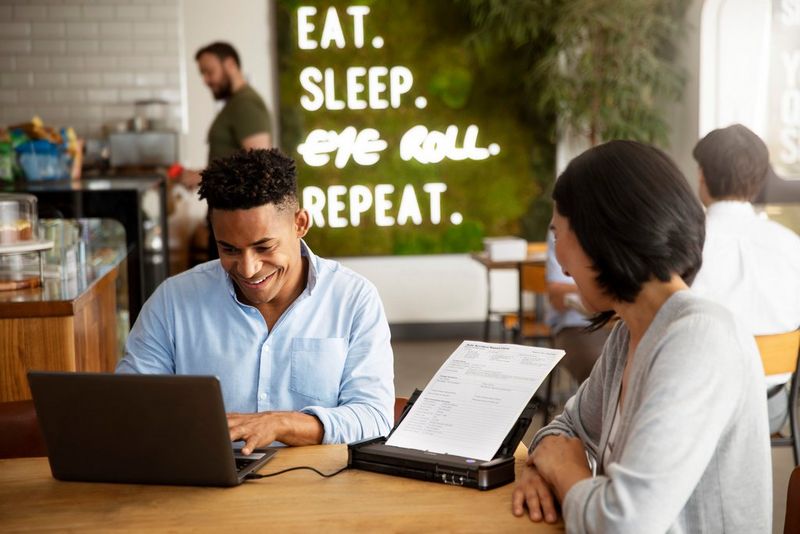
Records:
[[[369,6],[348,6],[345,13],[352,19],[353,46],[363,48],[364,25],[370,13]],[[297,46],[301,50],[338,49],[347,47],[347,39],[342,29],[342,17],[335,7],[326,10],[322,33],[315,39],[316,25],[313,17],[317,14],[314,6],[297,8]],[[382,48],[382,38],[373,39],[372,46]],[[391,67],[375,65],[370,67],[352,66],[344,73],[344,94],[337,93],[337,73],[333,68],[321,69],[307,66],[300,71],[299,83],[304,93],[300,96],[300,105],[309,112],[321,109],[339,110],[385,110],[398,109],[407,100],[414,87],[414,75],[411,69],[402,65]],[[414,105],[425,108],[428,104],[424,95],[414,99]],[[491,143],[488,147],[478,146],[479,128],[475,124],[466,127],[463,137],[459,139],[459,127],[449,125],[445,130],[428,129],[424,125],[411,126],[400,140],[400,157],[403,161],[417,161],[423,164],[436,164],[445,159],[453,161],[481,161],[500,153],[500,146]],[[386,140],[381,138],[376,128],[358,130],[347,126],[341,131],[317,128],[311,130],[305,141],[297,147],[303,161],[311,167],[333,165],[344,169],[348,164],[370,166],[381,159],[381,153],[389,148]],[[363,185],[350,188],[334,185],[324,192],[316,186],[303,190],[303,205],[309,210],[314,225],[319,227],[344,228],[348,225],[359,226],[362,216],[374,209],[374,221],[377,226],[420,225],[423,223],[422,210],[413,185],[403,187],[396,216],[388,215],[392,201],[387,195],[394,192],[391,184],[378,184],[373,189]],[[445,184],[427,183],[422,187],[429,194],[430,209],[428,220],[432,224],[441,223],[440,198],[447,190]],[[349,203],[349,204],[348,204]],[[326,209],[323,209],[327,206]],[[341,213],[349,212],[349,218]],[[460,224],[463,217],[453,213],[449,218],[452,224]]]

